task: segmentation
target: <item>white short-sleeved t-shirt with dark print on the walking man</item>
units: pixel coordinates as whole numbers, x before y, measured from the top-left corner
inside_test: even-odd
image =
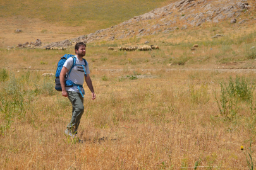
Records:
[[[82,60],[78,60],[76,57],[76,64],[82,64],[85,65],[85,62]],[[75,65],[73,67],[73,69],[70,72],[70,69],[73,65],[73,58],[70,57],[68,60],[66,60],[66,62],[64,63],[63,67],[66,67],[68,69],[68,72],[66,73],[67,75],[67,80],[70,80],[72,82],[74,82],[75,84],[81,84],[83,85],[83,77],[85,77],[85,72],[86,74],[90,74],[90,70],[89,70],[89,66],[88,66],[88,62],[86,62],[86,67],[85,67],[85,71],[83,71],[83,66],[82,65]],[[68,75],[68,73],[70,72],[70,75]],[[82,93],[83,93],[83,89],[80,88]],[[79,90],[76,86],[73,87],[66,87],[66,91],[75,91],[79,93]]]

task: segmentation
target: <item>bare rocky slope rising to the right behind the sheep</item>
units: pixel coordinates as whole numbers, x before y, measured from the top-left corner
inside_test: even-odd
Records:
[[[169,33],[175,30],[186,30],[204,25],[207,22],[219,23],[229,21],[240,25],[253,18],[244,18],[246,13],[255,10],[255,1],[247,0],[181,0],[168,6],[157,8],[149,13],[134,16],[128,21],[95,33],[82,35],[70,40],[49,43],[44,48],[68,47],[76,42],[111,41],[130,37],[142,37]]]

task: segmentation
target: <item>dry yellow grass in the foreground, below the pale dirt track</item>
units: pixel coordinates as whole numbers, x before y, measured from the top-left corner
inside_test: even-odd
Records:
[[[78,134],[82,144],[64,136],[71,106],[60,93],[49,93],[52,87],[44,84],[51,84],[51,78],[30,71],[26,79],[26,71],[18,72],[20,93],[8,90],[13,82],[1,82],[2,127],[11,118],[10,128],[0,137],[1,168],[180,169],[198,160],[205,166],[198,169],[247,167],[244,152],[255,137],[255,111],[251,115],[249,104],[241,102],[237,117],[227,120],[219,113],[213,90],[220,98],[219,82],[229,76],[255,82],[254,72],[140,73],[144,78],[135,80],[126,78],[134,74],[129,71],[92,73],[97,99],[91,101],[86,90]],[[18,94],[24,99],[23,110]]]

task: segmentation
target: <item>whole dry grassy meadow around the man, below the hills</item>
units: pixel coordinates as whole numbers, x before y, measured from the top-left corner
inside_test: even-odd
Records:
[[[87,44],[97,98],[85,85],[83,143],[64,135],[70,102],[42,77],[73,47],[2,48],[1,169],[253,169],[255,31],[194,39],[195,52],[178,33]],[[107,50],[145,39],[160,50]]]

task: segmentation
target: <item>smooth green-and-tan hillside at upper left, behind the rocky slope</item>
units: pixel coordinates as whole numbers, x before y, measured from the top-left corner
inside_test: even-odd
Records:
[[[118,25],[171,1],[1,1],[0,47],[34,42],[37,38],[43,43],[75,38]],[[15,33],[16,29],[21,32]]]

